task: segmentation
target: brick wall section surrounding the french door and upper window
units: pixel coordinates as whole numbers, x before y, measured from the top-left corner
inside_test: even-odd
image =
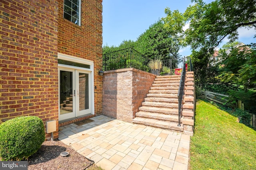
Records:
[[[81,0],[81,26],[63,18],[59,0],[58,52],[94,61],[94,112],[102,113],[102,0]]]

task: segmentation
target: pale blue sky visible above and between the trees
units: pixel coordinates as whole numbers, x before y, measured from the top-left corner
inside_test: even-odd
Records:
[[[206,0],[205,2],[210,2]],[[136,39],[159,19],[166,17],[164,9],[184,12],[190,0],[103,0],[103,46],[118,46],[124,40]],[[256,29],[239,29],[239,39],[245,44],[256,43]],[[224,39],[224,43],[228,39]],[[180,49],[180,55],[190,55],[190,48]]]

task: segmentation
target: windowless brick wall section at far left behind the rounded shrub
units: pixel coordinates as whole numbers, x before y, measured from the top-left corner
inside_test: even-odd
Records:
[[[0,123],[35,115],[58,124],[58,1],[1,0],[0,27]]]

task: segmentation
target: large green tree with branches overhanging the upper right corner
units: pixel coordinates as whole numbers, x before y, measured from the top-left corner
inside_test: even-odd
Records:
[[[256,24],[256,0],[215,0],[209,4],[203,0],[192,0],[192,2],[194,5],[189,6],[184,13],[178,10],[172,12],[166,8],[167,16],[164,22],[166,27],[176,30],[178,40],[183,46],[189,45],[193,50],[192,58],[197,62],[193,63],[194,71],[202,73],[196,77],[198,79],[196,82],[198,82],[197,85],[202,85],[207,82],[208,77],[204,77],[205,73],[202,69],[205,70],[207,66],[210,66],[209,61],[214,53],[213,49],[218,47],[225,37],[228,37],[230,42],[238,39],[238,28],[249,28]],[[189,27],[185,30],[186,24]],[[245,73],[244,75],[250,78],[250,82],[253,82],[250,77],[252,75],[248,74],[249,66],[253,66],[250,64],[253,63],[242,63],[243,72],[240,70],[238,74]]]

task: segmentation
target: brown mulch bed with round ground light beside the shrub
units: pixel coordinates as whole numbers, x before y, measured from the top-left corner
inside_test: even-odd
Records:
[[[60,156],[61,152],[68,156]],[[41,148],[28,158],[28,170],[84,170],[94,162],[61,141],[44,141]]]

